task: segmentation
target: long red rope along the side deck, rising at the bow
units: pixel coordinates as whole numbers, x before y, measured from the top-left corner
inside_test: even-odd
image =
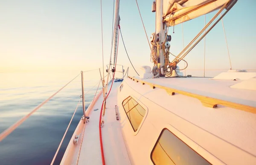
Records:
[[[120,26],[118,26],[118,27],[120,29]],[[119,43],[119,31],[118,31],[118,38],[117,38],[116,61],[117,61],[117,53],[118,53],[118,43]],[[115,65],[115,69],[116,69],[116,65]],[[110,93],[110,91],[112,89],[115,73],[116,72],[114,72],[114,74],[113,74],[113,80],[112,80],[111,87],[109,89],[108,95],[109,95],[109,93]],[[103,95],[104,94],[105,93],[103,93]],[[102,119],[103,104],[104,104],[104,101],[108,98],[108,95],[106,96],[106,98],[102,102],[102,107],[101,107],[100,116],[99,116],[99,142],[100,142],[100,150],[101,150],[101,155],[102,155],[102,165],[105,165],[105,157],[104,157],[103,144],[102,144],[101,119]]]

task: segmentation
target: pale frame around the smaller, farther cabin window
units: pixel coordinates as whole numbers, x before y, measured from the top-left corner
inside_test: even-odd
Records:
[[[131,97],[131,98],[128,99],[129,97]],[[141,120],[140,125],[138,126],[138,128],[137,128],[136,131],[134,130],[134,127],[132,126],[131,121],[129,120],[129,117],[128,117],[128,115],[127,115],[127,113],[130,112],[130,110],[128,110],[128,112],[126,112],[125,107],[124,107],[124,105],[125,105],[125,104],[128,104],[128,101],[130,101],[131,99],[134,99],[134,101],[136,101],[137,104],[139,104],[139,105],[145,110],[145,115],[143,116],[143,119]],[[124,101],[127,101],[127,102],[123,105],[123,102],[124,102]],[[137,105],[136,105],[136,106],[137,106]],[[134,106],[134,107],[136,107],[136,106]],[[135,136],[135,135],[137,135],[137,133],[139,132],[140,128],[142,127],[143,122],[145,121],[145,118],[146,118],[146,116],[147,116],[147,114],[148,114],[148,108],[145,106],[145,104],[143,104],[141,101],[139,101],[136,97],[134,97],[134,96],[132,96],[132,95],[128,96],[127,98],[125,98],[125,99],[122,101],[122,107],[123,107],[124,113],[126,114],[126,117],[127,117],[128,121],[130,122],[131,128],[132,128],[132,130],[134,131],[134,136]],[[134,107],[133,107],[133,108],[134,108]],[[133,108],[132,108],[132,109],[133,109]],[[132,110],[132,109],[131,109],[131,110]]]

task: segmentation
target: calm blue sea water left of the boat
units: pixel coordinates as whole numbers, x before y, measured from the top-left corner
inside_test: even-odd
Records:
[[[0,133],[78,74],[79,72],[0,73]],[[99,82],[99,77],[88,79],[91,77],[88,74],[84,73],[85,93]],[[86,107],[92,101],[97,87],[98,84],[85,95]],[[80,95],[81,75],[0,142],[0,165],[50,164]],[[55,165],[61,162],[82,115],[80,104],[55,159]]]

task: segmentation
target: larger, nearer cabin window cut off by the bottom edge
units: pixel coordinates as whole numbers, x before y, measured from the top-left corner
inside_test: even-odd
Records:
[[[168,129],[163,129],[151,152],[154,165],[210,165]]]

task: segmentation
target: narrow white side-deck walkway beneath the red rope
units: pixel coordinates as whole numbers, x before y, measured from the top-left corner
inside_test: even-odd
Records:
[[[116,98],[120,82],[114,82],[111,93],[107,98],[102,128],[102,143],[106,165],[130,165],[130,160],[122,137],[120,123],[116,120]],[[89,113],[90,122],[85,126],[84,139],[79,156],[79,165],[102,165],[102,156],[99,141],[99,115],[102,106],[101,95]],[[95,110],[98,109],[98,110]],[[77,157],[77,155],[75,155]]]

